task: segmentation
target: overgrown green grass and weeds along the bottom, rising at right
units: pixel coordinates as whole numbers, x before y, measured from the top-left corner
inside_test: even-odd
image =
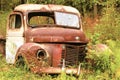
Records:
[[[120,43],[120,42],[119,42]],[[109,40],[107,42],[112,51],[112,58],[109,52],[91,52],[95,64],[85,62],[82,68],[86,72],[81,72],[77,78],[73,75],[61,73],[59,75],[33,74],[30,71],[16,68],[5,62],[5,57],[0,57],[0,80],[119,80],[120,79],[120,45],[118,42]],[[99,54],[99,56],[98,56]]]

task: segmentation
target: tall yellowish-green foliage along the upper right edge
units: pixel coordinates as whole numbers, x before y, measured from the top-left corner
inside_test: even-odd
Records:
[[[107,7],[103,11],[100,24],[96,25],[96,32],[101,34],[100,39],[102,42],[109,39],[120,40],[120,14],[115,9],[115,4],[114,1],[108,2]]]

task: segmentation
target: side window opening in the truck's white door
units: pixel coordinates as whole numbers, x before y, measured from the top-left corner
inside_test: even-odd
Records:
[[[13,14],[10,15],[9,19],[9,28],[10,29],[19,29],[21,27],[22,21],[21,21],[21,16],[19,14]]]

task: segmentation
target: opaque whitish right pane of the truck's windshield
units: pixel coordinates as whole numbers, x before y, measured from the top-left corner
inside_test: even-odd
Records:
[[[79,18],[75,14],[55,12],[56,24],[79,28]]]

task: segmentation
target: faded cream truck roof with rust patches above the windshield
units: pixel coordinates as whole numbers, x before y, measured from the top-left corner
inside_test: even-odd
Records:
[[[63,5],[54,5],[54,4],[22,4],[19,6],[16,6],[14,11],[20,11],[20,12],[30,12],[30,11],[64,11],[64,12],[71,12],[80,14],[79,11],[71,6],[63,6]]]

